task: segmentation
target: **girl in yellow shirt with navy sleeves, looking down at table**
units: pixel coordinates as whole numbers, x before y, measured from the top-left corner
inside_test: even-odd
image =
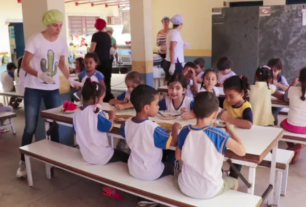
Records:
[[[230,124],[236,125],[243,129],[251,129],[253,125],[253,113],[251,104],[244,100],[247,96],[250,85],[248,78],[245,76],[234,75],[226,79],[223,83],[223,90],[226,99],[223,103],[223,110],[220,118]],[[240,172],[242,165],[233,164]],[[228,175],[235,179],[238,178],[231,167],[229,171],[225,171],[224,175]]]

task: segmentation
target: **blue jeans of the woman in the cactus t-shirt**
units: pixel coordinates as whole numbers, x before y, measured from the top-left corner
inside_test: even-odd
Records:
[[[56,108],[61,105],[60,92],[58,89],[46,91],[33,88],[25,88],[24,106],[26,126],[23,131],[21,146],[25,146],[32,143],[32,139],[36,132],[38,124],[41,100],[43,100],[46,109]],[[54,130],[51,132],[51,140],[59,142],[58,130]],[[25,160],[23,154],[21,154],[21,160]]]

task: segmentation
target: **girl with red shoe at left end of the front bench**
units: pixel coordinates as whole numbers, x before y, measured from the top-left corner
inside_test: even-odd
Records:
[[[113,149],[108,141],[107,133],[113,128],[115,112],[109,111],[107,118],[104,111],[97,107],[103,103],[105,86],[87,78],[82,87],[82,106],[76,110],[73,119],[73,131],[76,142],[86,165],[106,165],[113,162],[127,163],[129,155]],[[102,194],[119,200],[123,197],[108,186],[104,186]]]

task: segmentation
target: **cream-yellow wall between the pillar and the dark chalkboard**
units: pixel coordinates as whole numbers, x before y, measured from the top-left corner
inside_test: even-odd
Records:
[[[153,0],[154,49],[157,49],[156,35],[162,29],[162,17],[182,14],[184,23],[181,34],[185,42],[191,43],[185,55],[211,56],[212,8],[222,6],[223,0]]]

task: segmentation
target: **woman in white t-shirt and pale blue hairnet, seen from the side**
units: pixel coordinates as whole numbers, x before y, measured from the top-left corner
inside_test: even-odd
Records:
[[[182,63],[184,60],[184,49],[188,49],[190,44],[184,43],[181,36],[181,29],[183,27],[183,16],[180,14],[174,15],[171,18],[173,30],[169,31],[166,37],[167,55],[162,68],[165,71],[165,84],[170,75],[174,72],[182,72]]]

